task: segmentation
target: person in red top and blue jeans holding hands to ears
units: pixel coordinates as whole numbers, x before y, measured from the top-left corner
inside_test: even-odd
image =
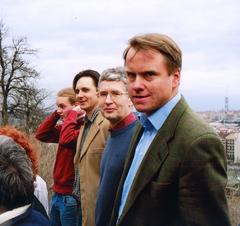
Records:
[[[36,138],[46,143],[58,143],[53,170],[53,197],[50,203],[52,226],[76,226],[77,200],[72,196],[74,182],[73,158],[84,111],[77,105],[72,88],[60,90],[57,109],[36,130]]]

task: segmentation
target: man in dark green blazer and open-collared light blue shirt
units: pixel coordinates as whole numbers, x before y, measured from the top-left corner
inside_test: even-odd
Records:
[[[162,34],[133,37],[124,52],[133,135],[111,225],[230,226],[223,145],[179,93],[182,53]]]

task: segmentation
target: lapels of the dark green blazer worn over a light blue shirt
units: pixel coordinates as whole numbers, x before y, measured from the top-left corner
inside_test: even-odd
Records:
[[[151,181],[155,174],[159,172],[162,164],[164,163],[169,153],[167,143],[174,136],[174,132],[178,125],[178,121],[181,118],[183,112],[186,110],[186,108],[187,104],[184,98],[182,97],[178,104],[175,106],[175,108],[172,110],[166,121],[164,122],[161,129],[158,131],[157,135],[155,136],[137,171],[137,174],[135,175],[119,223],[121,222],[121,219],[123,219],[126,213],[129,211],[129,209],[133,205],[138,195],[142,192],[144,187]],[[133,137],[133,140],[131,142],[129,156],[127,158],[128,160],[126,161],[123,176],[120,182],[121,190],[119,190],[120,197],[117,197],[118,202],[121,200],[122,187],[125,178],[127,177],[128,170],[131,166],[135,149],[142,135],[142,131],[143,129],[138,128],[136,131],[136,135]],[[114,214],[115,217],[116,214],[117,213]]]

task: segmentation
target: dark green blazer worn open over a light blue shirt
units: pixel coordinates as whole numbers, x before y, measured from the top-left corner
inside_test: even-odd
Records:
[[[222,143],[183,98],[151,143],[116,223],[123,183],[142,132],[139,125],[119,184],[111,225],[230,226]]]

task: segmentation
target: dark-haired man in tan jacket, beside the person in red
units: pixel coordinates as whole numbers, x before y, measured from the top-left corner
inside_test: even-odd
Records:
[[[97,71],[89,69],[79,72],[73,79],[73,89],[77,100],[81,109],[86,112],[74,157],[76,177],[73,194],[81,205],[82,226],[95,225],[100,161],[108,137],[109,122],[102,116],[98,108],[99,76]]]

